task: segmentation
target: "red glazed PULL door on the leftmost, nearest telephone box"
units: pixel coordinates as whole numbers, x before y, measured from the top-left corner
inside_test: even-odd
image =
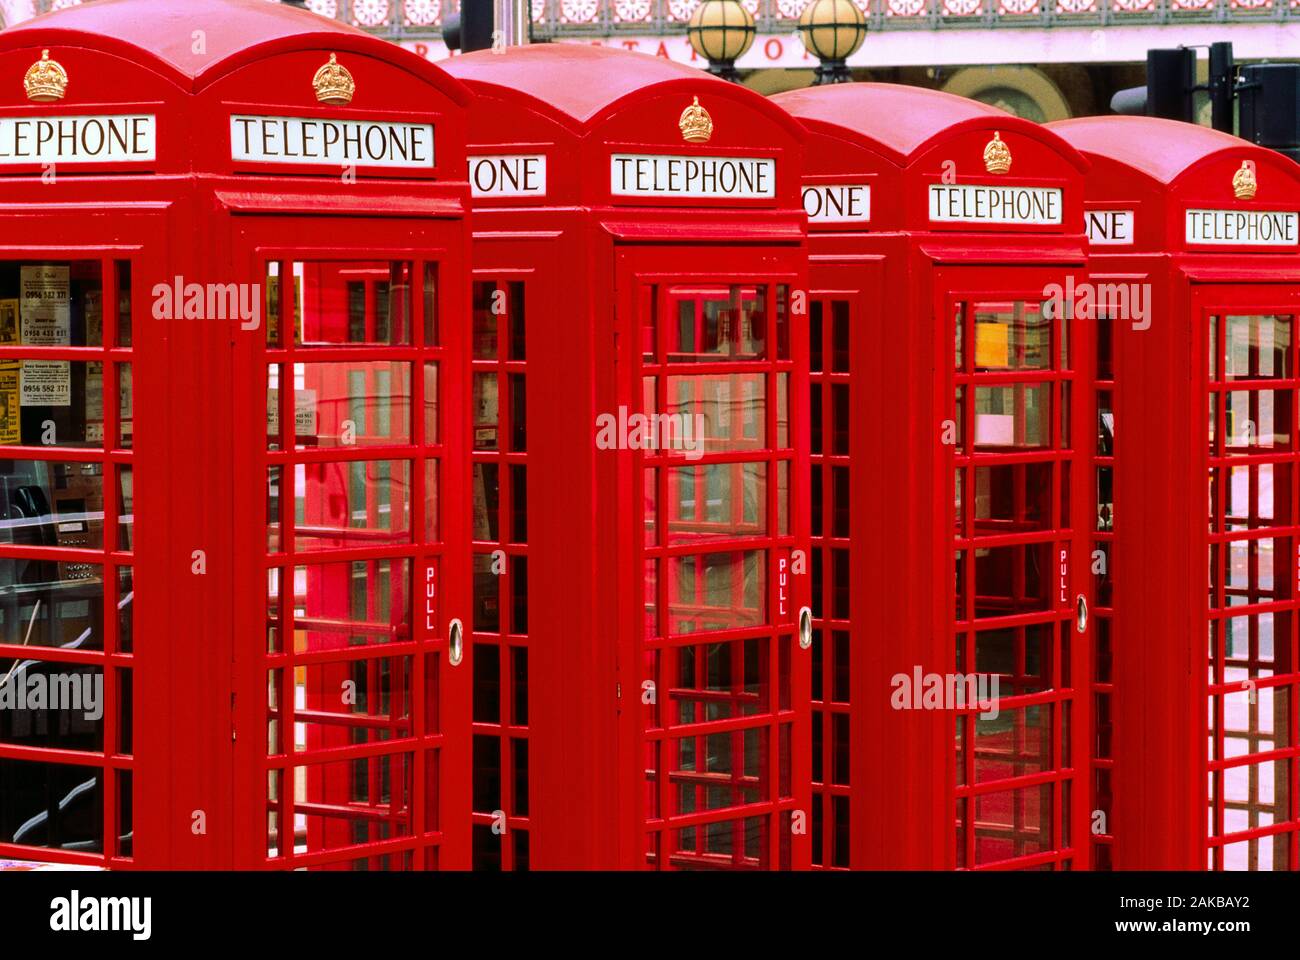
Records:
[[[346,239],[303,241],[321,235]],[[237,650],[240,862],[468,866],[459,239],[237,220],[265,308],[237,398],[246,555],[263,558]]]

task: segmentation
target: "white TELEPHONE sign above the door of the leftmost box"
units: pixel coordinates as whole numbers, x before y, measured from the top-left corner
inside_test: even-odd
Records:
[[[433,168],[433,125],[329,117],[230,117],[235,163]]]

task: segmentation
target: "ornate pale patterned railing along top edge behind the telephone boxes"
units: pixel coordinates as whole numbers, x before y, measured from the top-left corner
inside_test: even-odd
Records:
[[[276,0],[268,0],[274,3]],[[685,33],[699,0],[532,0],[533,35]],[[39,0],[42,10],[81,0]],[[792,33],[806,0],[741,0],[759,33]],[[1257,23],[1300,20],[1300,0],[854,0],[871,30]],[[393,39],[438,36],[459,0],[307,0],[316,13]]]

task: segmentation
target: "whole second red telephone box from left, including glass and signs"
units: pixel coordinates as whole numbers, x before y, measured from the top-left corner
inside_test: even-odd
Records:
[[[806,865],[802,131],[603,48],[447,70],[477,96],[474,859]]]

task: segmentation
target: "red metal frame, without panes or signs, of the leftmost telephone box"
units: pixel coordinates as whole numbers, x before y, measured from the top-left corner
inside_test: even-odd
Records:
[[[204,31],[204,44],[195,43],[196,27]],[[49,49],[70,75],[68,95],[55,104],[21,99],[20,81],[43,49]],[[313,95],[312,75],[330,53],[339,56],[356,81],[348,107],[326,109]],[[105,0],[53,13],[0,35],[0,75],[12,81],[10,94],[0,104],[4,116],[147,112],[157,117],[159,131],[156,161],[68,167],[43,183],[36,180],[42,168],[9,167],[0,178],[6,237],[25,238],[22,243],[6,242],[4,258],[130,261],[133,327],[131,342],[117,343],[117,313],[109,311],[104,347],[6,346],[0,347],[0,359],[103,360],[107,395],[116,390],[120,368],[130,363],[135,414],[131,449],[116,442],[117,405],[105,403],[108,440],[101,449],[6,446],[3,455],[130,466],[142,518],[131,550],[118,541],[114,496],[105,497],[101,550],[0,545],[0,557],[104,563],[109,578],[117,567],[131,566],[138,588],[129,652],[120,647],[120,601],[110,591],[104,598],[101,653],[40,653],[52,661],[112,669],[105,684],[104,749],[0,744],[0,758],[94,767],[113,778],[101,796],[101,851],[0,844],[0,855],[136,868],[338,869],[348,860],[352,866],[374,865],[380,861],[372,855],[387,853],[398,865],[468,866],[468,787],[462,786],[468,784],[469,773],[464,667],[443,670],[439,715],[424,709],[429,691],[425,674],[416,671],[408,693],[420,709],[411,717],[407,735],[381,745],[337,751],[341,757],[399,749],[415,753],[406,810],[389,809],[390,821],[398,814],[407,818],[404,834],[344,844],[326,855],[268,861],[266,771],[324,758],[300,754],[277,760],[274,751],[268,756],[268,667],[296,665],[313,656],[276,654],[265,648],[266,568],[276,563],[291,567],[294,561],[291,553],[268,555],[266,467],[320,458],[309,451],[268,453],[266,364],[292,363],[303,351],[291,345],[268,350],[265,330],[243,330],[238,317],[164,320],[151,310],[159,287],[176,277],[256,285],[260,291],[268,259],[438,264],[443,340],[437,347],[424,343],[420,324],[410,345],[322,347],[312,359],[442,363],[443,445],[421,445],[424,379],[412,376],[415,433],[410,444],[384,449],[384,454],[413,464],[425,455],[442,458],[442,540],[424,545],[412,539],[396,549],[367,548],[370,553],[365,554],[441,558],[436,622],[393,647],[417,663],[439,660],[447,622],[464,618],[469,609],[464,574],[468,460],[455,453],[463,449],[468,431],[468,410],[460,401],[468,382],[468,343],[460,325],[450,321],[467,310],[469,293],[463,152],[468,94],[441,70],[391,44],[260,0],[176,0],[166,5]],[[355,182],[328,168],[237,169],[229,159],[229,117],[248,104],[260,112],[430,122],[437,130],[437,165],[406,178],[360,167]],[[117,273],[107,271],[105,277],[104,302],[114,303]],[[286,304],[282,298],[281,306]],[[412,306],[413,321],[420,320],[422,300]],[[289,393],[281,395],[285,424],[294,416]],[[376,455],[378,449],[365,453]],[[337,459],[356,455],[341,453]],[[413,485],[415,529],[421,529],[424,519],[420,477],[422,471]],[[286,523],[285,532],[291,529]],[[203,552],[202,575],[194,572],[195,550]],[[312,558],[324,559],[318,554]],[[412,617],[419,615],[416,623],[422,627],[422,579],[413,578],[408,593]],[[10,657],[18,653],[5,652]],[[281,692],[286,696],[292,693],[291,673],[285,673]],[[291,702],[282,704],[282,743],[292,739]],[[130,744],[125,743],[127,725]],[[398,728],[403,727],[393,731]],[[425,766],[434,754],[442,766],[437,777]],[[5,786],[0,783],[0,791]],[[334,788],[313,790],[324,791],[328,800]],[[328,813],[348,820],[360,816],[355,809]]]

